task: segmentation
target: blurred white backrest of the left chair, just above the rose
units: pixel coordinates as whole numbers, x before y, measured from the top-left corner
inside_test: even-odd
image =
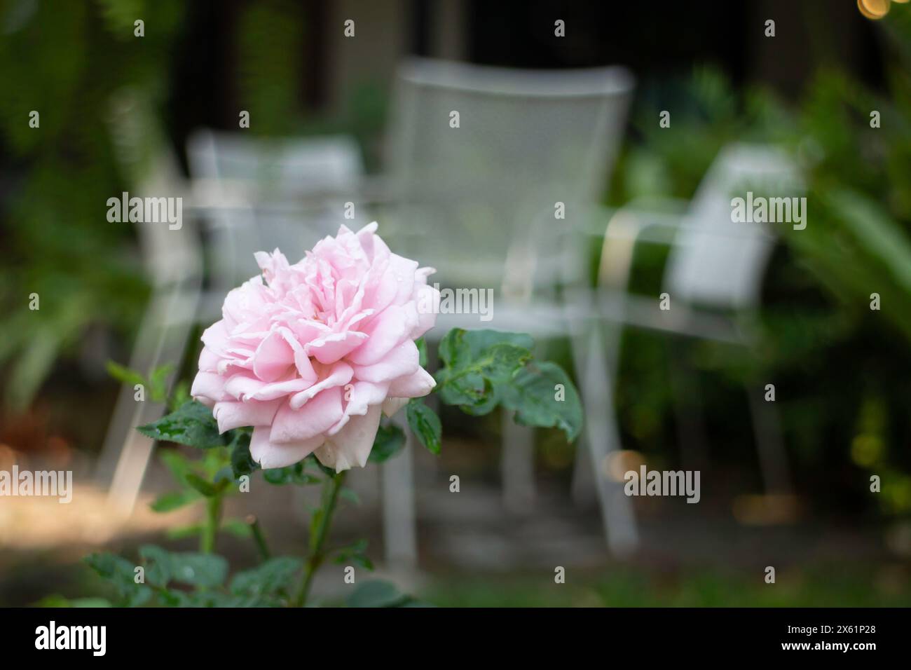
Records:
[[[202,321],[220,318],[225,294],[259,272],[253,252],[278,247],[294,263],[338,232],[363,178],[361,151],[346,136],[257,139],[203,129],[189,138],[187,156],[210,267]]]

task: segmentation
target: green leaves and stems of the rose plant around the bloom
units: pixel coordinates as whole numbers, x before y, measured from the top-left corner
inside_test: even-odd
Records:
[[[426,345],[416,343],[419,363],[426,365]],[[482,416],[502,405],[515,410],[517,423],[542,428],[559,428],[572,441],[582,428],[582,407],[578,392],[567,374],[549,361],[535,361],[534,342],[529,335],[492,330],[466,331],[454,328],[439,346],[443,367],[436,373],[435,390],[446,405],[459,407],[472,416]],[[159,368],[149,378],[114,363],[108,370],[125,384],[148,388],[149,397],[163,402],[169,367]],[[184,387],[185,388],[185,387]],[[354,562],[373,570],[366,555],[367,541],[358,540],[337,549],[327,549],[333,514],[339,500],[358,505],[353,490],[344,488],[345,471],[336,472],[322,465],[314,453],[297,463],[262,470],[262,478],[273,485],[307,486],[320,484],[322,499],[311,510],[310,533],[305,559],[272,558],[265,537],[255,519],[222,519],[227,496],[251,490],[251,475],[260,469],[252,459],[250,444],[253,428],[220,431],[212,409],[179,390],[167,403],[169,414],[139,426],[140,433],[159,443],[174,443],[199,450],[197,459],[187,459],[179,451],[163,451],[161,459],[178,484],[151,503],[157,512],[177,510],[196,502],[205,503],[205,516],[199,524],[172,529],[172,538],[200,537],[200,550],[174,553],[156,546],[139,550],[143,561],[134,566],[112,553],[87,557],[88,565],[99,576],[114,584],[118,604],[138,606],[273,606],[301,607],[307,603],[315,573],[327,559]],[[439,454],[442,426],[439,417],[423,398],[405,407],[408,425],[428,451]],[[378,427],[369,460],[382,463],[404,447],[404,431],[389,419]],[[215,554],[220,531],[251,537],[256,543],[261,565],[241,572],[225,585],[228,562]],[[142,575],[142,579],[138,575]],[[171,582],[195,587],[192,592],[172,588]],[[298,586],[292,590],[292,584]],[[367,582],[349,600],[351,606],[406,606],[413,599],[398,593],[392,584]]]

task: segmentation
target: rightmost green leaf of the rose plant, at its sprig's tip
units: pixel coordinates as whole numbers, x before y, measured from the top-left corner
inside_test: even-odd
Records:
[[[577,438],[582,429],[582,404],[578,392],[567,373],[556,363],[535,363],[519,372],[512,383],[504,387],[503,405],[516,411],[516,423],[559,428],[566,433],[569,442]]]

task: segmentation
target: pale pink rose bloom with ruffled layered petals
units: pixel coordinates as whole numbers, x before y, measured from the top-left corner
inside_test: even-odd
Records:
[[[221,320],[202,334],[191,395],[220,432],[252,426],[262,468],[310,453],[337,472],[363,467],[381,412],[392,416],[434,378],[415,339],[436,315],[433,268],[389,251],[371,223],[345,226],[290,265],[277,249],[256,253],[262,274],[233,289]]]

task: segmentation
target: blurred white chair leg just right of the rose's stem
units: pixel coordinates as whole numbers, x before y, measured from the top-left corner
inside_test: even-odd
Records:
[[[415,475],[413,445],[404,411],[393,418],[404,428],[401,453],[387,460],[383,472],[383,541],[386,564],[393,570],[412,570],[417,565]]]

